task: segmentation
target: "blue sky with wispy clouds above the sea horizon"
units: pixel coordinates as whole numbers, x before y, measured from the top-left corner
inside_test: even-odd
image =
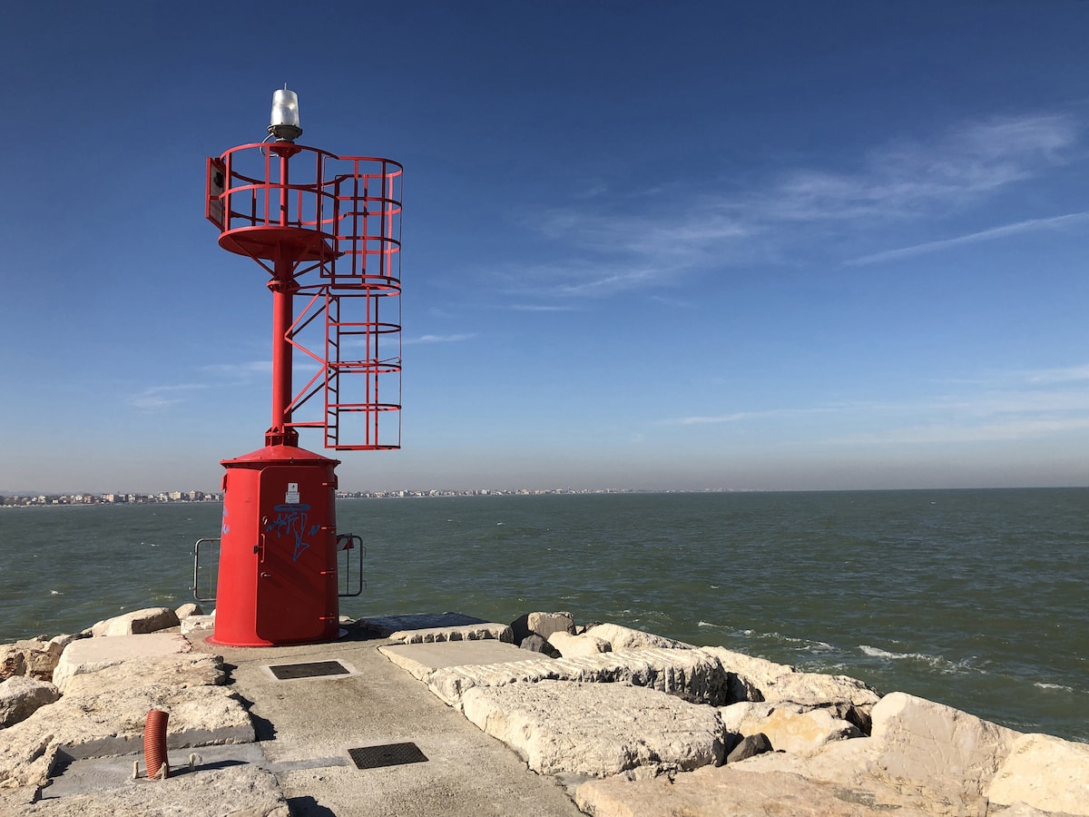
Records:
[[[215,489],[266,273],[205,157],[405,168],[403,449],[341,486],[1089,485],[1089,3],[19,3],[0,490]],[[320,440],[303,438],[320,450]]]

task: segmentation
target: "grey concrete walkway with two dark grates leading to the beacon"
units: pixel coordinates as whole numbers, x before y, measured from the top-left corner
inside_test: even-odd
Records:
[[[395,630],[400,629],[404,627],[399,623]],[[391,663],[378,649],[388,646],[384,639],[368,637],[363,627],[348,630],[345,638],[321,645],[194,644],[197,650],[222,655],[231,666],[229,688],[249,706],[266,763],[293,817],[580,817],[555,779],[535,775],[507,746]],[[412,646],[463,651],[480,645],[526,655],[499,642]],[[501,660],[509,661],[510,655],[506,651]],[[469,658],[479,659],[479,654]],[[354,667],[358,674],[282,683],[271,680],[266,669],[330,660]],[[351,748],[408,742],[426,761],[372,769],[317,763],[347,759]]]

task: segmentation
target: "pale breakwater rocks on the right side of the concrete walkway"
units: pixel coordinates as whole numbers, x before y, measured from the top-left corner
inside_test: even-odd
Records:
[[[380,649],[598,817],[1089,815],[1087,744],[570,613],[492,637],[540,655],[429,667]]]

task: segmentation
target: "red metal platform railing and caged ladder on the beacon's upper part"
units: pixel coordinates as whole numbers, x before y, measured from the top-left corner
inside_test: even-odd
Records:
[[[293,143],[208,159],[205,215],[220,246],[253,258],[302,304],[283,340],[302,355],[292,368],[314,368],[284,425],[321,428],[327,448],[401,447],[403,172],[391,159]]]

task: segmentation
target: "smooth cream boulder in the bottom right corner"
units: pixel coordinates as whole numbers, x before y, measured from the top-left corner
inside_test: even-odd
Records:
[[[991,804],[1089,815],[1089,744],[1023,734],[987,790]]]

